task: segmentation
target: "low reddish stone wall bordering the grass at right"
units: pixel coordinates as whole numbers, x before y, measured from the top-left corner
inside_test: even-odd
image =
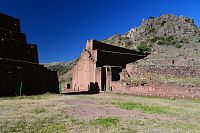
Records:
[[[200,98],[198,87],[183,87],[165,84],[149,84],[146,86],[124,86],[120,82],[113,82],[113,93],[125,93],[136,96],[178,97],[178,98]]]

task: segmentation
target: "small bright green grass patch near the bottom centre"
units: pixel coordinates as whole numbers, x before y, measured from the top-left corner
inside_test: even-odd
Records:
[[[119,121],[120,121],[119,118],[112,118],[112,117],[98,118],[95,120],[95,124],[101,125],[103,127],[109,127],[109,126],[117,126]]]

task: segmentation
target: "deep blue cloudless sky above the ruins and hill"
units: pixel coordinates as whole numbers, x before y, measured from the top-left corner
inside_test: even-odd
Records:
[[[87,39],[123,34],[149,16],[183,15],[200,26],[200,0],[0,0],[0,12],[20,18],[41,63],[73,60]]]

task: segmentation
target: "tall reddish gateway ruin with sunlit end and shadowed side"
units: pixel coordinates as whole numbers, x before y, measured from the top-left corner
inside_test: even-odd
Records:
[[[74,91],[111,91],[126,64],[146,57],[134,50],[88,40],[72,72]]]

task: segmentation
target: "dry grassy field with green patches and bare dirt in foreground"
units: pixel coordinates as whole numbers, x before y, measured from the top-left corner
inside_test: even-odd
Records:
[[[0,98],[0,132],[199,133],[200,100],[119,94]]]

